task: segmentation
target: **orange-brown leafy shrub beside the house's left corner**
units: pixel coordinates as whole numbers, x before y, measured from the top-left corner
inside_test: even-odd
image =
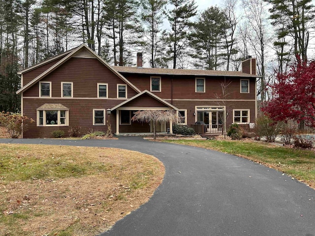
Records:
[[[22,130],[26,131],[29,124],[34,122],[32,118],[22,116],[20,113],[0,113],[0,126],[6,128],[9,135],[13,139],[19,138],[22,134]]]

